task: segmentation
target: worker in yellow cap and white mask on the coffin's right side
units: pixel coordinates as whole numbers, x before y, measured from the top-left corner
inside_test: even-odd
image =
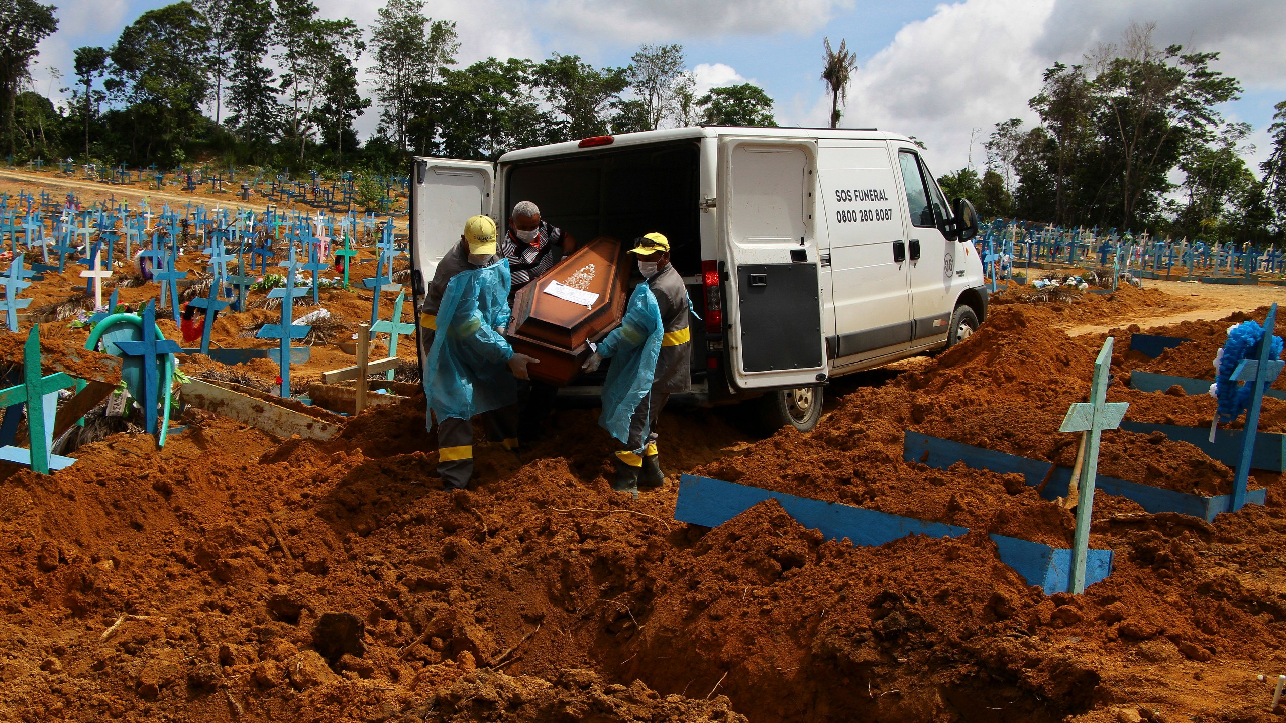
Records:
[[[635,239],[629,250],[646,279],[634,288],[621,325],[585,362],[593,372],[612,359],[603,383],[603,413],[598,423],[624,448],[612,458],[612,489],[638,495],[638,488],[665,481],[657,449],[657,419],[674,392],[692,385],[689,365],[688,289],[670,265],[670,242],[658,233]]]

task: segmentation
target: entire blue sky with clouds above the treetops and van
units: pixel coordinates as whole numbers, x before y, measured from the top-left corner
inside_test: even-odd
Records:
[[[316,0],[328,17],[369,26],[379,1]],[[121,28],[159,0],[54,0],[60,30],[41,46],[33,73],[67,76],[71,51],[111,45]],[[1155,22],[1157,45],[1220,50],[1219,69],[1246,91],[1227,117],[1255,126],[1267,154],[1273,105],[1286,99],[1286,3],[1281,0],[428,0],[435,18],[458,23],[459,59],[579,54],[625,64],[643,42],[682,42],[705,86],[752,81],[777,103],[783,125],[823,125],[829,100],[820,72],[822,37],[856,51],[859,71],[842,125],[916,135],[937,172],[983,163],[994,122],[1035,116],[1026,100],[1055,60],[1083,62],[1098,42],[1118,41],[1132,22]],[[370,111],[359,130],[377,122]],[[975,136],[971,144],[970,138]]]

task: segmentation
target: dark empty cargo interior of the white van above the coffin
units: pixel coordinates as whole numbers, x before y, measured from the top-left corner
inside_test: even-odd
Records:
[[[629,242],[660,232],[680,274],[701,269],[700,147],[696,140],[622,148],[514,165],[505,179],[505,219],[531,201],[550,224],[579,241]]]

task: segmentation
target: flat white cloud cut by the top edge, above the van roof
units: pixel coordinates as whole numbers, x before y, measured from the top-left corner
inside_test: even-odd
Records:
[[[683,37],[813,32],[854,0],[547,0],[550,30],[629,42]]]

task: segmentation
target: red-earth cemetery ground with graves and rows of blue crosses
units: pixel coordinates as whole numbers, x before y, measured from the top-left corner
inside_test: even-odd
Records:
[[[0,194],[0,723],[1286,713],[1273,248],[997,221],[986,322],[810,432],[667,409],[630,499],[563,404],[445,494],[401,183],[103,174]]]

